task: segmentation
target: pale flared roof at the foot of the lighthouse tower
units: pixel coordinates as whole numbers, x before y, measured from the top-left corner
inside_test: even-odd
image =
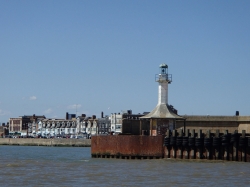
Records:
[[[185,118],[174,113],[172,108],[167,104],[158,104],[152,112],[149,114],[140,117],[140,119],[148,119],[148,118],[158,118],[158,119],[181,119]]]

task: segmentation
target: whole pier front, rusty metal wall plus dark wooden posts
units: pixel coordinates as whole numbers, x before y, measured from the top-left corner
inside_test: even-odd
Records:
[[[227,130],[167,131],[165,136],[93,136],[93,158],[207,159],[250,162],[250,134]]]

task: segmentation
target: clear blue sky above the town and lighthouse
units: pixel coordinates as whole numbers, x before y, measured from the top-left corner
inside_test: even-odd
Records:
[[[0,122],[158,102],[166,63],[180,115],[250,115],[248,0],[1,0]]]

